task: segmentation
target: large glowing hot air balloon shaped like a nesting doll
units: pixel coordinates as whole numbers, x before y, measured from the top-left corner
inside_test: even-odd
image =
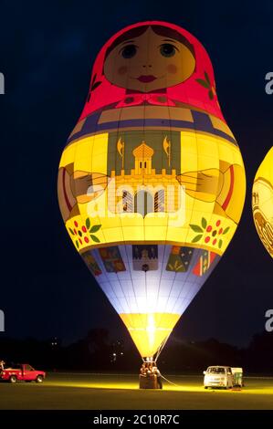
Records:
[[[111,37],[62,153],[58,201],[145,362],[156,360],[226,251],[245,191],[200,42],[160,21]]]

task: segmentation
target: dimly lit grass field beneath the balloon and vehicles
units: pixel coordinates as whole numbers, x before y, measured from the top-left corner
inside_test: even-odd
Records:
[[[205,390],[202,376],[169,376],[163,391],[124,374],[48,373],[43,384],[0,383],[2,410],[273,410],[273,378],[246,378],[241,391]]]

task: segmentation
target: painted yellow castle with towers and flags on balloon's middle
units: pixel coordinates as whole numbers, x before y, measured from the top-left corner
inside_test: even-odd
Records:
[[[142,141],[132,149],[134,168],[125,161],[126,142],[119,139],[117,151],[121,157],[121,169],[111,170],[110,180],[114,180],[113,193],[108,193],[108,206],[112,212],[165,213],[176,211],[181,204],[180,183],[177,172],[172,168],[172,141],[164,137],[161,156],[167,160],[167,168],[155,168],[153,158],[156,149]],[[130,153],[130,157],[131,157]],[[180,173],[180,172],[179,172]]]

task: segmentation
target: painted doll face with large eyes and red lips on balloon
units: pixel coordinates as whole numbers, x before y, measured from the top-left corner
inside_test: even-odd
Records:
[[[140,36],[124,36],[125,40],[110,48],[104,63],[110,83],[150,92],[180,84],[194,73],[194,50],[181,36],[179,40],[156,34],[151,26]]]

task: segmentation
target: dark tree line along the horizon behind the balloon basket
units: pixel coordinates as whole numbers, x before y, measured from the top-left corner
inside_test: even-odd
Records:
[[[110,340],[105,329],[89,330],[85,338],[63,345],[60,340],[0,338],[0,360],[30,363],[51,371],[131,371],[141,365],[131,343]],[[215,339],[169,340],[158,359],[161,371],[199,373],[210,365],[243,367],[248,373],[273,374],[273,334],[257,333],[246,348]]]

